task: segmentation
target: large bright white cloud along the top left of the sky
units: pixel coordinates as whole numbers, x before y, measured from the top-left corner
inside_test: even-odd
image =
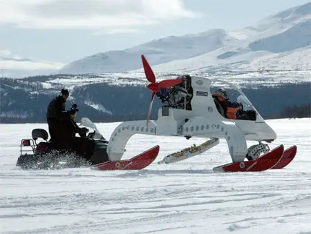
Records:
[[[0,0],[0,6],[0,24],[19,28],[137,32],[141,26],[198,17],[182,0]]]

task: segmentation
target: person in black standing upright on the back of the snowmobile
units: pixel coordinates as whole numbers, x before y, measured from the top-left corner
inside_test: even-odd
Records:
[[[70,121],[70,115],[74,115],[77,112],[77,110],[73,108],[71,110],[65,109],[68,97],[69,91],[63,88],[61,93],[50,101],[46,112],[50,141],[52,141],[54,147],[58,149],[69,148],[70,142],[68,142],[68,137],[66,137],[65,120]]]

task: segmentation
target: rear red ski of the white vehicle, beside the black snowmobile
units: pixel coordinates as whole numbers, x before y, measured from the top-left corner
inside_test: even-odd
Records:
[[[158,156],[160,146],[155,146],[149,150],[132,157],[131,159],[125,159],[115,162],[103,162],[91,166],[94,170],[141,170],[149,166],[154,159]]]

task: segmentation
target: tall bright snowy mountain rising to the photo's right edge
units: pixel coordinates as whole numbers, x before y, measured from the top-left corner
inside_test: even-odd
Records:
[[[311,3],[266,17],[254,26],[231,34],[239,35],[241,39],[204,55],[153,66],[153,70],[208,72],[310,69]]]

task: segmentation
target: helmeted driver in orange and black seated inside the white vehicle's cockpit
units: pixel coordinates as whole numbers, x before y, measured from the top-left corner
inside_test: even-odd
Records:
[[[220,105],[221,108],[223,108],[223,116],[225,118],[244,120],[256,119],[256,112],[254,110],[244,111],[243,105],[240,102],[229,101],[227,91],[224,88],[216,88],[216,91],[214,92],[212,97],[214,98],[216,107]]]

